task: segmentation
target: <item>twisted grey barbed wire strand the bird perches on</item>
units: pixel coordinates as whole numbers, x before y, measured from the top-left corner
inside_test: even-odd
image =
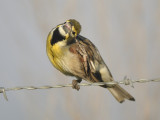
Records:
[[[124,84],[124,85],[131,85],[131,87],[134,88],[133,83],[146,83],[146,82],[160,82],[160,78],[157,79],[139,79],[139,80],[131,80],[127,78],[127,76],[124,77],[122,81],[111,81],[111,82],[97,82],[97,83],[78,83],[79,86],[100,86],[100,85],[107,85],[108,87],[112,87],[115,84]],[[16,90],[36,90],[36,89],[51,89],[51,88],[63,88],[63,87],[72,87],[72,84],[66,84],[66,85],[55,85],[55,86],[24,86],[24,87],[14,87],[14,88],[4,88],[0,87],[0,93],[3,94],[5,100],[8,101],[6,92],[7,91],[16,91]]]

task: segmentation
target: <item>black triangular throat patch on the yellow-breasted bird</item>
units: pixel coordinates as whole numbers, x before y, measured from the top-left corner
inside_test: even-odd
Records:
[[[62,41],[64,40],[65,37],[62,36],[60,33],[59,33],[59,30],[58,28],[55,29],[53,35],[52,35],[52,39],[51,39],[51,45],[54,45],[55,43],[57,43],[58,41]]]

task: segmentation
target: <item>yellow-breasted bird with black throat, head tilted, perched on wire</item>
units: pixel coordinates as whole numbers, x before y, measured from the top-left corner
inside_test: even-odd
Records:
[[[113,81],[112,74],[96,46],[81,36],[80,32],[81,25],[75,19],[69,19],[49,32],[47,55],[53,66],[65,75],[75,76],[77,80],[73,80],[72,85],[77,90],[80,89],[78,83],[82,79],[91,83]],[[135,101],[119,85],[101,87],[107,88],[120,103],[125,99]]]

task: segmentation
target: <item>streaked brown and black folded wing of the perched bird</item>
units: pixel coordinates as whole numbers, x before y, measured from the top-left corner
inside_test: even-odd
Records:
[[[112,75],[105,65],[96,46],[87,38],[78,35],[76,37],[75,51],[78,54],[81,61],[81,68],[84,71],[85,78],[90,82],[103,82],[103,76],[109,74],[108,78],[112,78]],[[105,73],[101,72],[101,69],[105,68]],[[103,75],[102,75],[103,74]],[[107,80],[110,81],[110,80]]]

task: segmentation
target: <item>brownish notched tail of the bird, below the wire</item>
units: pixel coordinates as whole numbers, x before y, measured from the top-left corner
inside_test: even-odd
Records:
[[[134,97],[130,95],[126,90],[124,90],[119,85],[115,85],[108,90],[112,93],[112,95],[116,98],[116,100],[120,103],[124,102],[125,99],[135,101]]]

